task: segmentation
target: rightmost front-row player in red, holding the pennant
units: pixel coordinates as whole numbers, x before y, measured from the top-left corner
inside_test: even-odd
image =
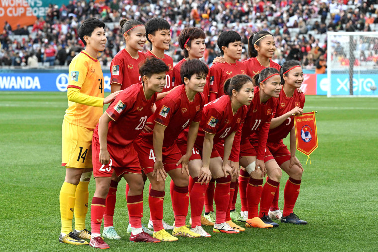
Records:
[[[289,175],[284,191],[284,207],[280,218],[281,222],[294,224],[307,224],[300,220],[293,213],[295,202],[299,195],[299,188],[302,181],[303,168],[299,160],[295,157],[296,141],[293,115],[303,113],[305,97],[299,93],[297,88],[303,82],[303,70],[299,61],[286,61],[280,69],[281,84],[283,88],[280,92],[279,103],[276,108],[275,118],[272,119],[267,146],[275,158],[277,164]],[[283,144],[283,138],[290,133],[290,151]],[[279,187],[276,189],[278,195]],[[276,198],[274,199],[274,201]],[[260,208],[261,209],[261,208]],[[269,216],[275,217],[272,213],[278,210],[277,202],[273,202]]]

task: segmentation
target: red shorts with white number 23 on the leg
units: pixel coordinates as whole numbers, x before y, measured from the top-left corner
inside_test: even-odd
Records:
[[[107,143],[107,150],[110,154],[110,162],[107,165],[103,165],[99,161],[99,139],[92,138],[93,177],[111,177],[113,171],[115,171],[117,177],[124,173],[142,174],[138,154],[132,144],[124,146]]]

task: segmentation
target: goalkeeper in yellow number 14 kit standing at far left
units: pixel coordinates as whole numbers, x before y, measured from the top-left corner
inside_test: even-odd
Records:
[[[78,35],[84,51],[70,63],[67,97],[68,109],[62,125],[62,166],[66,177],[59,194],[62,229],[59,242],[86,245],[91,232],[85,227],[88,210],[88,184],[92,174],[92,133],[102,115],[103,105],[118,94],[104,98],[104,80],[99,51],[105,50],[105,24],[88,18],[79,27]],[[75,214],[75,229],[72,219]]]

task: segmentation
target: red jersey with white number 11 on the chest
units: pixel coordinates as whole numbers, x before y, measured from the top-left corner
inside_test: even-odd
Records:
[[[270,98],[266,103],[260,100],[260,88],[254,88],[254,96],[251,105],[248,106],[248,112],[242,129],[235,135],[235,141],[258,142],[257,159],[263,160],[265,147],[269,132],[269,125],[272,120],[273,110],[277,107],[278,99]],[[232,150],[232,157],[239,157],[238,153]]]

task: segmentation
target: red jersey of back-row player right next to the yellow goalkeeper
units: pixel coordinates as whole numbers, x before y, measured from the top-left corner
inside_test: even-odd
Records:
[[[141,82],[139,67],[146,60],[146,55],[138,52],[138,59],[131,57],[126,48],[119,51],[111,61],[110,85],[120,84],[121,90]]]

